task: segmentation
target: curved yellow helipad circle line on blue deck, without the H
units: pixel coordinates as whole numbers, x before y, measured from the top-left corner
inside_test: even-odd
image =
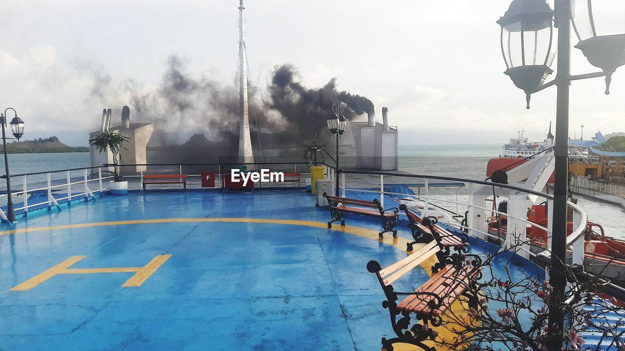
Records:
[[[237,223],[267,223],[267,224],[286,224],[286,225],[303,225],[307,227],[315,227],[327,230],[334,230],[335,232],[344,232],[348,234],[358,235],[359,237],[365,237],[367,239],[378,240],[378,232],[372,229],[365,229],[361,227],[354,227],[352,225],[346,225],[341,227],[340,224],[332,225],[331,229],[327,228],[327,223],[325,222],[314,222],[312,220],[296,220],[296,219],[256,219],[256,218],[166,218],[166,219],[135,219],[135,220],[118,220],[112,222],[94,222],[94,223],[77,223],[77,224],[64,224],[64,225],[53,225],[50,227],[33,227],[33,228],[21,228],[21,229],[13,229],[13,230],[4,230],[0,232],[0,237],[4,235],[10,234],[21,234],[21,233],[33,233],[33,232],[45,232],[47,230],[61,230],[61,229],[78,229],[78,228],[91,228],[91,227],[111,227],[114,225],[131,225],[131,224],[159,224],[159,223],[202,223],[202,222],[237,222]],[[381,240],[381,244],[391,245],[396,247],[397,249],[406,250],[406,244],[409,240],[397,237],[392,238],[391,234],[387,234],[387,239]],[[414,247],[417,249],[420,244],[416,244]],[[416,251],[416,250],[414,250]],[[414,252],[413,251],[413,252]],[[426,260],[421,264],[421,266],[426,270],[427,274],[431,274],[431,270],[429,269],[436,261],[434,257]],[[463,307],[460,306],[459,301],[454,302],[452,304],[452,308],[454,310],[459,310],[460,312]],[[453,333],[450,330],[440,330],[439,335],[441,337],[449,339],[449,337],[454,337]],[[431,341],[426,341],[426,344],[429,346],[434,346],[434,343]],[[407,344],[396,344],[395,349],[397,351],[416,351],[420,350],[414,345]],[[448,350],[446,348],[440,348],[439,350],[444,351]]]

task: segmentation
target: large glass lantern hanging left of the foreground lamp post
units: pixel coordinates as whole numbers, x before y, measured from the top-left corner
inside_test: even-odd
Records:
[[[497,21],[501,26],[501,53],[506,74],[526,93],[527,109],[532,92],[553,71],[555,57],[553,13],[545,0],[514,0]]]

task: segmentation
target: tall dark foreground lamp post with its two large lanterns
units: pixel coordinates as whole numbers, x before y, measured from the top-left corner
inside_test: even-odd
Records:
[[[517,87],[526,92],[527,107],[529,108],[530,94],[552,85],[557,86],[556,142],[554,145],[556,169],[549,284],[560,297],[564,296],[566,288],[564,271],[567,235],[569,86],[571,81],[579,79],[606,77],[606,94],[609,94],[612,73],[617,67],[625,64],[625,21],[622,20],[625,17],[625,6],[623,1],[576,0],[576,12],[572,11],[571,2],[571,0],[555,0],[555,9],[551,11],[551,7],[545,0],[514,0],[506,14],[497,21],[502,31],[501,50],[506,61],[506,74],[512,78]],[[607,17],[608,21],[599,24],[599,21],[596,21],[599,14]],[[551,65],[549,55],[553,47],[552,18],[558,31],[557,74],[556,79],[544,83],[546,76],[552,72],[549,68]],[[580,40],[576,47],[581,49],[592,65],[601,68],[603,72],[571,76],[571,20]],[[606,30],[597,31],[602,28]],[[539,32],[550,32],[549,41],[539,39]],[[538,54],[541,52],[542,54]],[[542,61],[544,54],[547,59]],[[539,59],[541,61],[537,61]],[[516,74],[515,71],[520,72]],[[564,330],[564,311],[551,306],[549,308],[549,332],[552,335],[561,335],[562,330]],[[561,350],[562,339],[556,339],[548,345],[549,350]]]

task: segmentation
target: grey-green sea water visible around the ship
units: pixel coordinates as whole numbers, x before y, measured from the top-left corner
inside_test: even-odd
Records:
[[[501,151],[501,144],[399,146],[399,169],[414,174],[485,180],[489,159],[499,156]],[[0,160],[0,173],[4,174],[4,159],[0,157]],[[89,163],[88,152],[9,155],[11,174],[89,167]],[[73,172],[72,176],[79,176],[78,173]],[[53,179],[64,177],[66,172],[53,174]],[[46,180],[45,174],[28,176],[29,184]],[[19,178],[14,182],[22,184]],[[0,180],[0,183],[3,182]],[[0,187],[4,188],[4,185],[0,184]],[[625,239],[625,207],[583,195],[576,197],[588,219],[601,224],[606,235]]]

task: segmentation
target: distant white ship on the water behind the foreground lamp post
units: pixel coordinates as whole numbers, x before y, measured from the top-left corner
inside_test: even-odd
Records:
[[[536,154],[551,148],[554,146],[554,137],[551,134],[551,124],[549,124],[549,134],[547,139],[541,142],[529,142],[527,138],[523,136],[525,131],[521,129],[516,138],[511,138],[510,142],[504,144],[504,148],[501,157],[507,157],[512,159],[525,159],[532,157]],[[589,148],[586,146],[572,146],[569,145],[569,156],[576,159],[587,159]]]

